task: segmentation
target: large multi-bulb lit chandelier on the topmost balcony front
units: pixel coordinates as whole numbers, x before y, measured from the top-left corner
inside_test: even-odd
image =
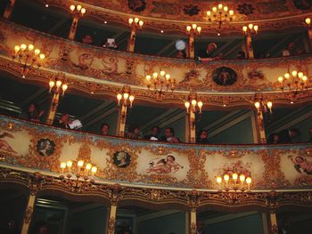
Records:
[[[218,36],[221,35],[222,24],[233,21],[234,11],[230,10],[226,5],[218,4],[212,7],[211,11],[206,12],[209,22],[217,23]]]

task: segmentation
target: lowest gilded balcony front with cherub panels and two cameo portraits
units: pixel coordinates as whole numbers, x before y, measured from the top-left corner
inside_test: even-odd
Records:
[[[219,175],[238,173],[252,178],[250,190],[253,192],[312,190],[311,143],[151,143],[63,130],[3,116],[0,117],[0,136],[0,167],[49,175],[74,189],[79,184],[73,186],[73,182],[92,181],[217,192]],[[79,160],[96,166],[97,172],[87,173],[84,169],[85,176],[76,178],[82,172],[82,167],[77,167]],[[71,167],[61,168],[61,163],[68,161],[72,162]]]

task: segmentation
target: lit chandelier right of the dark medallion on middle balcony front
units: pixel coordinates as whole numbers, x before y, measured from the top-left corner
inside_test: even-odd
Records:
[[[308,77],[303,74],[301,71],[293,70],[291,73],[286,72],[283,77],[278,77],[277,81],[280,85],[280,89],[283,91],[285,87],[288,87],[288,90],[304,90],[307,88]]]

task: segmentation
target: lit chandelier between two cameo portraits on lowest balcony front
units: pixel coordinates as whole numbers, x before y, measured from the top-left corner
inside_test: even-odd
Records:
[[[77,165],[74,165],[71,160],[62,162],[61,179],[70,190],[82,191],[91,187],[94,183],[94,175],[97,172],[97,167],[91,163],[85,165],[84,160],[78,160]],[[67,169],[67,170],[66,170]],[[63,173],[67,171],[66,175]]]

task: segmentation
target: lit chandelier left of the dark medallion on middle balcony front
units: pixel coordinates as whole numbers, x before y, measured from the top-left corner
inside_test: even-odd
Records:
[[[153,72],[151,75],[145,76],[147,82],[147,88],[150,90],[153,87],[155,93],[162,94],[164,91],[174,91],[176,86],[176,80],[166,73],[164,70],[160,70],[160,73]]]

